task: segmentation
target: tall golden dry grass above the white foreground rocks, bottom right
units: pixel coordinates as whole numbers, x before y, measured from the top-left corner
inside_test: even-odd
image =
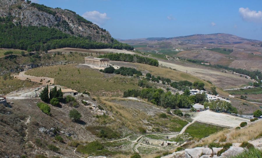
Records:
[[[190,145],[190,148],[199,144],[208,145],[212,142],[224,141],[226,136],[227,143],[242,143],[244,141],[250,141],[256,139],[261,134],[262,121],[253,123],[252,125],[243,127],[241,129],[225,129],[212,134],[206,138],[201,139],[197,143]]]

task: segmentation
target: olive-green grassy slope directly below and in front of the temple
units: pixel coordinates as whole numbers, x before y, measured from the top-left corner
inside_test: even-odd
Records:
[[[26,74],[51,77],[55,79],[55,84],[79,92],[88,91],[97,96],[122,96],[125,90],[139,88],[138,79],[135,77],[104,74],[90,68],[77,68],[77,65],[73,64],[35,68],[27,71]]]

